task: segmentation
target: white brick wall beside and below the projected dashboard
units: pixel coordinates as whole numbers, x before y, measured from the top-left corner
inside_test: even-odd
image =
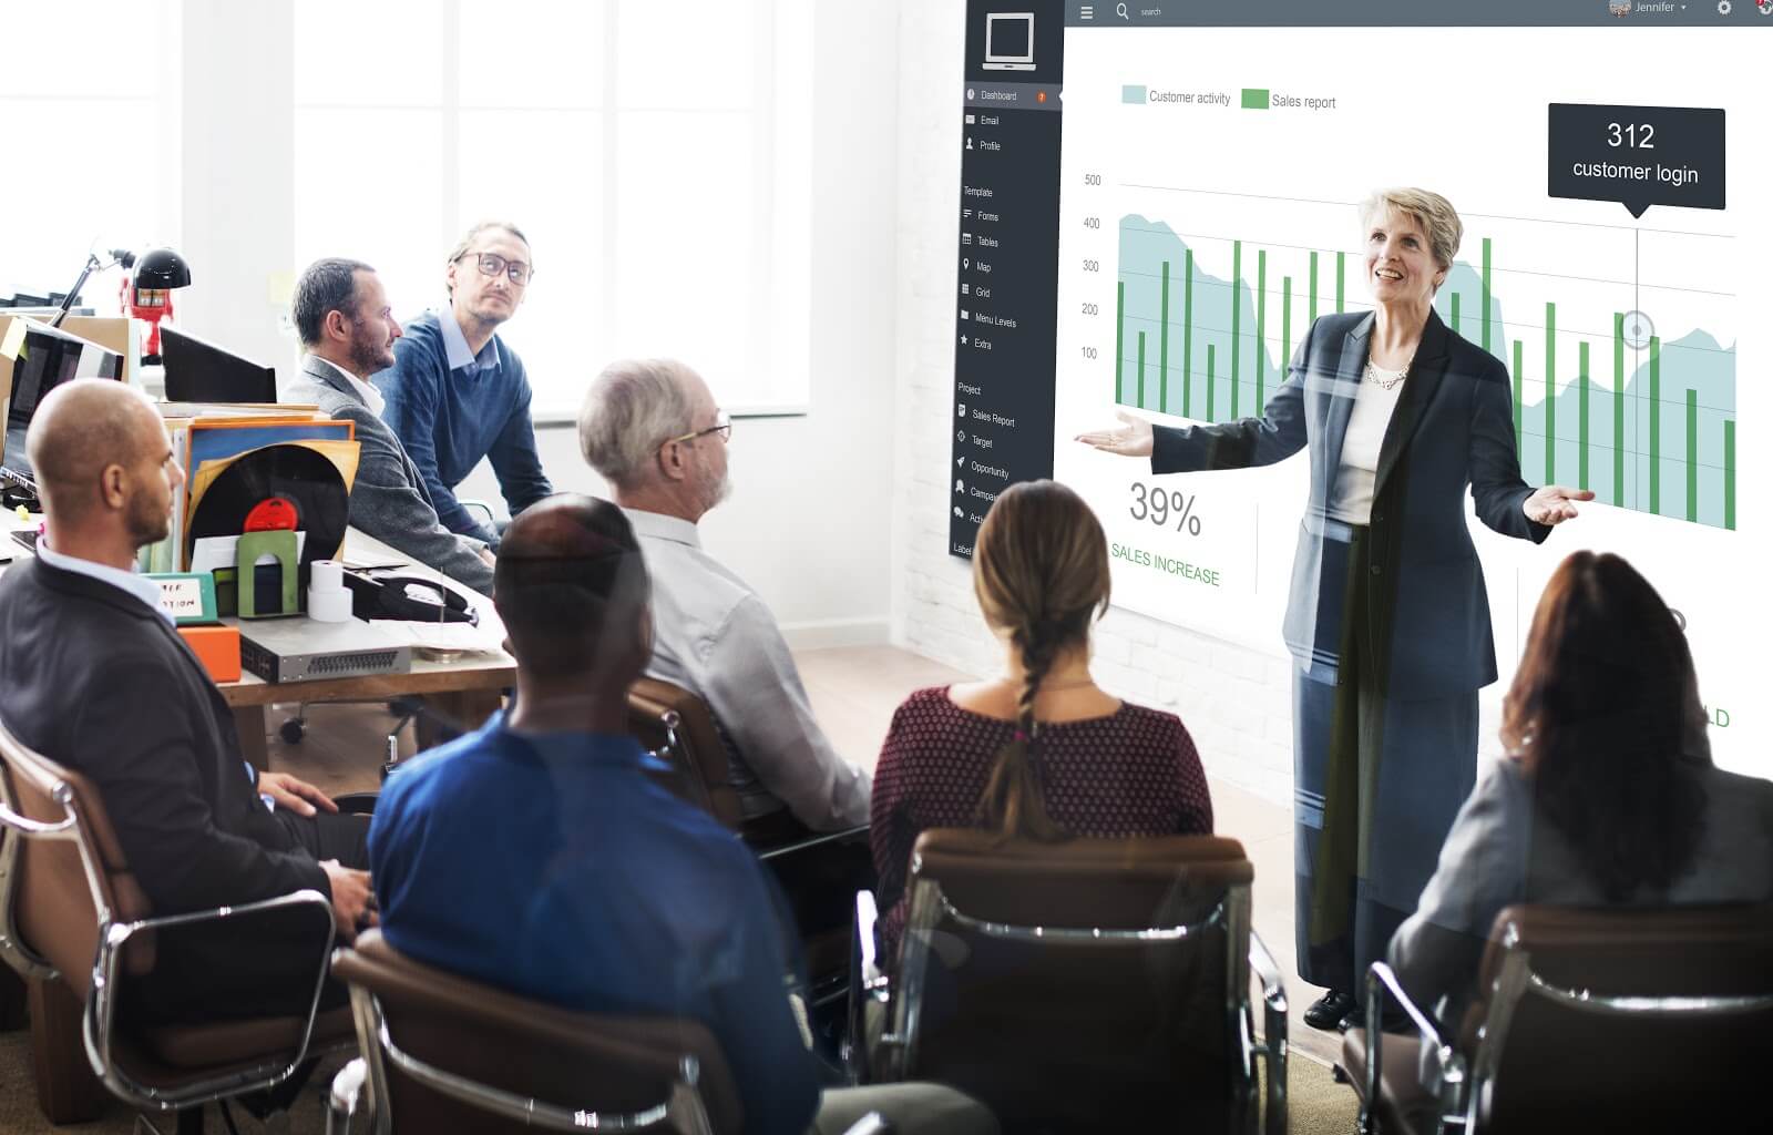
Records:
[[[961,149],[963,5],[906,0],[899,21],[897,394],[894,417],[894,642],[975,674],[1002,669],[965,560],[949,555],[949,429]],[[1112,610],[1096,677],[1179,713],[1207,773],[1293,802],[1287,661]]]

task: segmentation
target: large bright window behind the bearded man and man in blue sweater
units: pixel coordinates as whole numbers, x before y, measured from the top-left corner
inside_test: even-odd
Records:
[[[303,4],[294,261],[369,261],[413,316],[470,223],[511,220],[537,277],[500,335],[537,415],[624,355],[800,406],[810,23],[810,0]]]

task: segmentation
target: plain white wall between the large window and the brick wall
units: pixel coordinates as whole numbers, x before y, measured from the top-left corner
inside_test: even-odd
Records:
[[[732,498],[702,521],[702,543],[762,594],[793,644],[885,642],[897,14],[821,4],[814,35],[810,401],[805,417],[738,422]],[[718,399],[720,376],[704,378]],[[606,495],[571,424],[539,424],[537,445],[557,489]],[[498,500],[486,465],[461,491]]]

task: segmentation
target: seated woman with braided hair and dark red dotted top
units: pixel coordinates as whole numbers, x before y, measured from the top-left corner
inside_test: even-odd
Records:
[[[1004,674],[918,690],[894,713],[874,770],[871,839],[883,956],[897,961],[911,846],[926,828],[1073,835],[1213,830],[1181,718],[1090,679],[1090,624],[1108,610],[1108,544],[1062,484],[1011,486],[973,546],[973,592],[1005,646]]]

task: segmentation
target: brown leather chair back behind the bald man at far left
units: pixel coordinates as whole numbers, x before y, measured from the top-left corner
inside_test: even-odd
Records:
[[[16,933],[20,945],[53,967],[83,1002],[98,956],[99,904],[112,920],[131,922],[152,913],[147,896],[129,873],[92,782],[27,748],[4,725],[0,796],[27,819],[48,825],[73,819],[73,839],[7,834],[18,858],[0,892],[0,901],[7,903],[0,928],[11,928],[7,936]],[[154,936],[138,935],[124,951],[124,972],[140,975],[152,968]]]

